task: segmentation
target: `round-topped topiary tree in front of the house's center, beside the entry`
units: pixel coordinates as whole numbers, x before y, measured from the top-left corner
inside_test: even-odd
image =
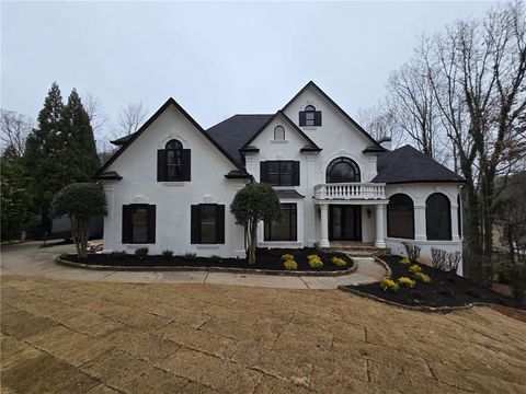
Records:
[[[236,193],[230,205],[236,223],[244,227],[244,240],[249,264],[255,263],[258,245],[258,223],[281,220],[282,210],[276,192],[264,183],[251,183]]]

